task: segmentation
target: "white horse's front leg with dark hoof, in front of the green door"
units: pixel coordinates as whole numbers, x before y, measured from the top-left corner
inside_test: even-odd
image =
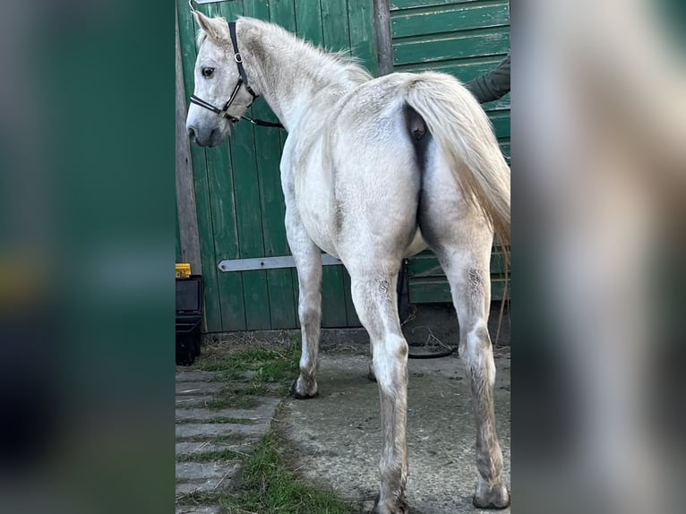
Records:
[[[322,324],[322,252],[307,236],[300,218],[292,210],[287,210],[286,229],[296,261],[298,317],[303,338],[300,375],[291,387],[291,394],[298,399],[314,398],[319,394],[316,375]]]

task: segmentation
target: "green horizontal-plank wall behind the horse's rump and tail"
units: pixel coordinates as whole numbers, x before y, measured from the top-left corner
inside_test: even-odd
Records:
[[[396,72],[433,70],[460,81],[492,70],[510,51],[507,0],[390,0]],[[484,104],[510,162],[510,95]],[[493,299],[502,298],[502,260],[491,261]],[[450,302],[450,285],[431,252],[409,262],[410,303]]]

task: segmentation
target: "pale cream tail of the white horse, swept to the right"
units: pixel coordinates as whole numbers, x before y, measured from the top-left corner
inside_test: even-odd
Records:
[[[457,79],[443,73],[408,75],[406,88],[407,105],[424,119],[461,192],[484,211],[506,255],[510,167],[484,109]]]

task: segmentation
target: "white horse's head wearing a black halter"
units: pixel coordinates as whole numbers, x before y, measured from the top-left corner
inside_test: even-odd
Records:
[[[201,32],[186,130],[191,141],[217,146],[231,134],[232,124],[253,103],[254,94],[241,81],[227,21],[197,11],[193,17]]]

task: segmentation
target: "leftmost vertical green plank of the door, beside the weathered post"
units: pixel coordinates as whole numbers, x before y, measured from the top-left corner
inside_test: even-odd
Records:
[[[177,11],[179,26],[179,44],[184,71],[185,95],[193,92],[193,67],[195,64],[195,27],[193,16],[188,6],[182,4]],[[221,307],[219,304],[219,285],[214,253],[214,239],[212,236],[210,189],[207,176],[207,161],[205,150],[192,145],[191,160],[193,162],[193,190],[195,191],[195,208],[198,221],[198,238],[202,266],[202,283],[204,288],[204,320],[203,331],[215,332],[222,330]]]

